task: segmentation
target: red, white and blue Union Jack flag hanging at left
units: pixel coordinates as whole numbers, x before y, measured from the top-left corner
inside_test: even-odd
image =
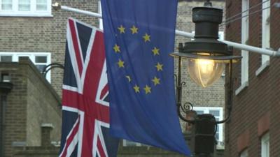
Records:
[[[102,31],[69,18],[62,86],[59,157],[116,156],[109,135],[109,89]]]

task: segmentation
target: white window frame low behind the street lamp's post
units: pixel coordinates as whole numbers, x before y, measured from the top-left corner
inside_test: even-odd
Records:
[[[209,114],[210,110],[215,110],[220,112],[220,116],[219,117],[215,117],[218,121],[223,120],[223,107],[193,107],[193,110],[197,111],[203,111],[204,114]],[[218,144],[222,145],[221,147],[223,147],[223,124],[218,124]]]

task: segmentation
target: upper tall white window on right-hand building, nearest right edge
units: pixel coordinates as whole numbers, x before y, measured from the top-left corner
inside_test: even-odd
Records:
[[[270,0],[262,0],[262,48],[270,49]],[[269,66],[270,57],[262,54],[262,65],[255,71],[260,75]]]

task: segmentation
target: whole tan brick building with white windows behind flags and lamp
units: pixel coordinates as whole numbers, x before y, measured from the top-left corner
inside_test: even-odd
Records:
[[[96,17],[71,13],[65,10],[53,10],[51,3],[55,1],[20,1],[0,0],[0,61],[18,61],[19,57],[29,57],[38,70],[42,71],[50,63],[64,64],[64,51],[66,43],[66,20],[68,17],[92,24],[99,27],[99,20]],[[100,12],[99,1],[97,0],[59,0],[62,6],[69,6],[81,10],[88,10],[94,13]],[[215,8],[225,8],[224,0],[211,1]],[[194,32],[195,25],[192,21],[192,8],[203,6],[204,0],[181,0],[178,3],[178,15],[176,29],[187,32]],[[221,38],[225,27],[220,28]],[[176,36],[175,47],[179,43],[185,43],[190,38]],[[175,73],[178,63],[175,61]],[[183,64],[186,68],[186,64]],[[186,82],[183,87],[183,103],[190,102],[198,114],[211,113],[216,119],[223,119],[224,116],[224,77],[216,84],[207,89],[202,89],[190,80],[187,71],[183,71],[182,81]],[[46,75],[46,79],[55,89],[58,96],[62,94],[61,68],[53,68]],[[186,122],[181,121],[183,133],[186,133]],[[223,150],[224,138],[223,124],[218,126],[216,139],[218,149]],[[53,131],[52,131],[53,132]],[[57,134],[58,135],[58,134]],[[33,147],[37,144],[29,144]],[[150,147],[142,144],[123,140],[120,147],[120,156],[131,156],[131,152],[139,152],[142,149],[150,150]],[[133,151],[131,151],[133,150]],[[158,150],[158,149],[156,149]],[[169,153],[162,151],[149,151],[151,154]],[[144,154],[145,156],[145,154]],[[159,155],[160,156],[160,155]],[[169,156],[175,156],[169,154]]]

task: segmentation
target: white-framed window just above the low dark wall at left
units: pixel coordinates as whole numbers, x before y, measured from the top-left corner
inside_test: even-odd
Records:
[[[0,52],[0,61],[18,61],[19,57],[29,57],[40,72],[50,64],[50,53],[45,52]],[[50,71],[45,77],[50,82]]]

